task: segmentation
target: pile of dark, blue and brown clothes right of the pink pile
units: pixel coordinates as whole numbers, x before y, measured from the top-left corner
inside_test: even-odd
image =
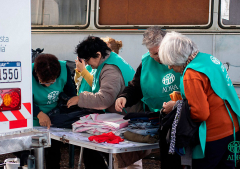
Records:
[[[124,116],[129,121],[124,138],[134,142],[158,142],[159,112],[129,113]]]

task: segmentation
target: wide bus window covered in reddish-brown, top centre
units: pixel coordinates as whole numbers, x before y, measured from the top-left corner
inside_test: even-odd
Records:
[[[98,28],[206,28],[211,24],[212,0],[97,0]]]

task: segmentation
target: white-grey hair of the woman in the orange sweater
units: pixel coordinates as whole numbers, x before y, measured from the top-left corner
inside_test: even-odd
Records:
[[[163,38],[158,54],[163,64],[182,66],[196,51],[197,45],[191,39],[177,32],[169,32]]]

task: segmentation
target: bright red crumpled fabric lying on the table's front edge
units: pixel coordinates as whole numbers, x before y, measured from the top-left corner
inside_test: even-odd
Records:
[[[97,143],[102,143],[102,142],[107,142],[107,143],[112,143],[112,144],[118,144],[119,142],[124,141],[119,136],[116,136],[112,132],[109,133],[103,133],[101,135],[96,135],[96,136],[90,136],[88,137],[89,141],[95,141]]]

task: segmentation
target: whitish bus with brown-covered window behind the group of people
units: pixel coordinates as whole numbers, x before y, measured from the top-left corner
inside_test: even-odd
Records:
[[[31,0],[32,48],[76,59],[88,35],[122,40],[120,55],[137,68],[147,52],[142,34],[152,25],[181,32],[225,63],[240,96],[239,0]]]

